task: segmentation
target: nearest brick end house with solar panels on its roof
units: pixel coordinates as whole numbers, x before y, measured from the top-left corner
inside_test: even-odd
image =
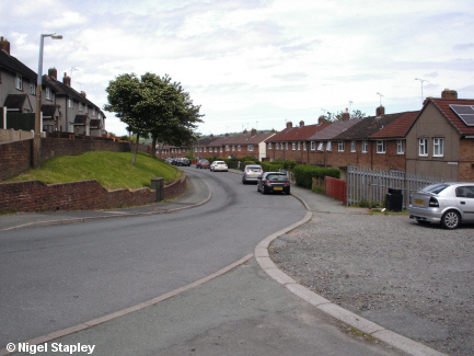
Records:
[[[444,90],[428,97],[406,135],[406,171],[474,181],[474,100]]]

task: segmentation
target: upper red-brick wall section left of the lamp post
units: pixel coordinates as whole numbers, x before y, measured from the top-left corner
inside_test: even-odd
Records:
[[[0,181],[32,168],[33,139],[0,143]]]

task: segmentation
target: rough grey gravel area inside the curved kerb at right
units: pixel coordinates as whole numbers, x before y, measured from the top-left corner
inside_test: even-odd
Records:
[[[331,301],[439,352],[474,355],[474,226],[314,213],[269,252]]]

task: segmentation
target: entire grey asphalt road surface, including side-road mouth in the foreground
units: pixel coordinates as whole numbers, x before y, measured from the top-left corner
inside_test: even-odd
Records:
[[[94,345],[94,355],[404,355],[351,335],[248,257],[265,237],[301,220],[300,202],[258,194],[232,173],[186,172],[206,180],[209,203],[175,214],[2,231],[0,347],[169,294],[54,342]]]

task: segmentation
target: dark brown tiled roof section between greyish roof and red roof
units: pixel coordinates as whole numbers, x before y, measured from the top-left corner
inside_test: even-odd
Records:
[[[381,116],[369,116],[361,119],[356,125],[349,127],[344,133],[334,137],[335,140],[363,140],[378,133],[380,129],[390,125],[402,117],[405,113],[384,114]]]

